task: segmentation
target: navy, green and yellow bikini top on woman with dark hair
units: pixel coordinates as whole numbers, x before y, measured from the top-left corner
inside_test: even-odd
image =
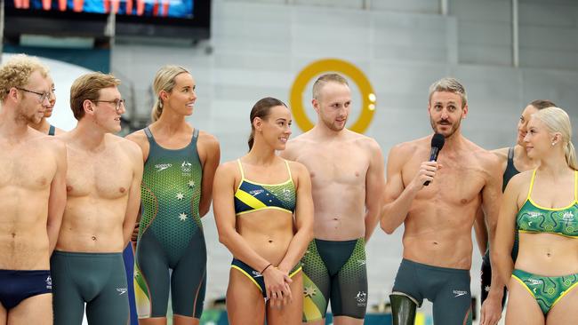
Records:
[[[293,214],[295,211],[295,185],[291,177],[289,163],[285,166],[289,179],[281,184],[260,184],[245,178],[241,160],[237,159],[241,170],[241,182],[235,192],[235,215],[251,213],[259,210],[276,209]]]

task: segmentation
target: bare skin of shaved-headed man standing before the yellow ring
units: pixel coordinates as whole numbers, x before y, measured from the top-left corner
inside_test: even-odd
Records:
[[[381,208],[381,148],[374,139],[345,128],[351,104],[346,84],[325,83],[312,104],[317,124],[289,141],[281,156],[309,170],[315,204],[314,237],[328,241],[365,238],[367,242]],[[334,323],[362,324],[363,320],[338,316]],[[325,324],[325,319],[309,324]]]

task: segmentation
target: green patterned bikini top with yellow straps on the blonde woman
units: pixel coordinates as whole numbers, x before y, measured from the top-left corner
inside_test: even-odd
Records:
[[[550,233],[578,237],[578,171],[574,171],[574,202],[564,208],[548,209],[531,197],[536,170],[532,175],[528,197],[516,216],[520,233]]]

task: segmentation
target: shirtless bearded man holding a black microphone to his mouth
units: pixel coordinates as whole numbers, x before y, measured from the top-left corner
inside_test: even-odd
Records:
[[[457,80],[444,78],[429,87],[428,112],[433,131],[446,139],[438,163],[428,161],[432,136],[389,152],[381,228],[392,234],[405,225],[404,259],[390,296],[393,323],[413,324],[416,305],[427,298],[435,324],[464,324],[471,320],[471,228],[481,205],[493,239],[502,193],[500,163],[462,136],[468,103]],[[493,283],[482,306],[482,325],[502,317],[503,283],[497,276]]]

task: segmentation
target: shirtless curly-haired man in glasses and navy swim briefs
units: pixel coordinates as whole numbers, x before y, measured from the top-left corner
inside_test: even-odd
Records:
[[[48,72],[16,55],[0,67],[0,325],[52,324],[49,258],[66,202],[66,146],[28,127],[50,106]]]

